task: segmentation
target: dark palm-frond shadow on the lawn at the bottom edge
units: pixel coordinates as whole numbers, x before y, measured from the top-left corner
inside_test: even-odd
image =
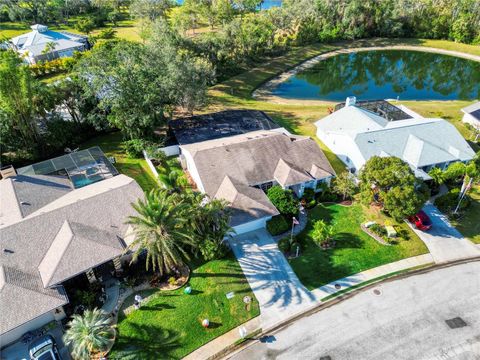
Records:
[[[134,334],[134,335],[131,335]],[[129,324],[129,334],[119,332],[110,359],[172,359],[180,344],[177,331],[155,325]]]

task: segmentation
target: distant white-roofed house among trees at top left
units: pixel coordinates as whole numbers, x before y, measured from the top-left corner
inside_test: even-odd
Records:
[[[88,38],[67,31],[52,31],[45,25],[32,25],[32,31],[8,41],[29,64],[72,56],[75,51],[89,49]]]

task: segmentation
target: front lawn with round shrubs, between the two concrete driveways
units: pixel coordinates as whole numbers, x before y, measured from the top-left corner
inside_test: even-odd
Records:
[[[293,270],[308,289],[428,252],[425,244],[404,223],[396,225],[408,232],[408,240],[399,240],[392,246],[379,244],[361,230],[360,224],[367,220],[381,223],[384,215],[370,212],[358,203],[350,207],[320,204],[310,210],[308,217],[306,229],[298,235],[302,244],[301,256],[290,260]],[[312,221],[318,219],[335,224],[335,248],[322,250],[310,238]]]

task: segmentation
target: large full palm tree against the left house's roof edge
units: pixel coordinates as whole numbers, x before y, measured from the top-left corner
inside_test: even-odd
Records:
[[[127,224],[132,225],[135,240],[128,249],[133,251],[132,262],[146,251],[147,270],[169,273],[173,267],[182,266],[190,257],[185,250],[195,246],[188,228],[186,211],[191,209],[177,193],[152,190],[145,201],[132,204],[137,216],[130,216]]]

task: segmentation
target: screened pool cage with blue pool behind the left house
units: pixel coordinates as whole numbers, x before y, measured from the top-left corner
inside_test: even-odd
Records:
[[[75,188],[118,175],[103,151],[94,146],[17,169],[19,175],[68,176]]]

